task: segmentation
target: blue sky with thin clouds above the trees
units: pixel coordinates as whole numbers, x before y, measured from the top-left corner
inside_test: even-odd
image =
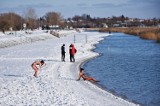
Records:
[[[122,14],[130,18],[160,18],[160,0],[0,0],[0,13],[24,15],[27,8],[33,8],[37,17],[59,12],[64,18],[82,14],[101,18]]]

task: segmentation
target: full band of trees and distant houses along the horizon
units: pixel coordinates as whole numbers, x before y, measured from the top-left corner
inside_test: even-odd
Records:
[[[49,26],[58,25],[59,28],[99,28],[104,27],[133,27],[133,26],[157,26],[160,24],[160,19],[148,19],[141,20],[138,18],[121,16],[112,16],[108,18],[91,17],[88,14],[75,15],[72,18],[64,19],[58,12],[48,12],[42,17],[37,17],[36,12],[33,8],[28,8],[23,16],[16,13],[2,13],[0,14],[0,29],[13,30],[24,29],[23,24],[26,24],[28,29],[36,29],[42,27],[43,29],[49,29]]]

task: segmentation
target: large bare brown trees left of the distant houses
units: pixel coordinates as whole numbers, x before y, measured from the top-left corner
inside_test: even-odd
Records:
[[[43,17],[38,18],[35,10],[29,8],[24,12],[23,16],[13,12],[0,14],[0,29],[9,30],[12,27],[13,30],[21,30],[24,29],[24,24],[26,24],[27,29],[36,29],[44,25],[63,26],[62,20],[61,14],[57,12],[48,12]]]

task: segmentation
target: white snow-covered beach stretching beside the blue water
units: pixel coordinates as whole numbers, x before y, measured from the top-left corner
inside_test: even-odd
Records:
[[[0,33],[0,46],[3,45],[0,48],[1,106],[135,106],[88,81],[76,81],[79,65],[98,55],[90,49],[106,34],[68,31],[66,36],[57,38],[39,31],[22,36],[20,33],[15,36]],[[28,42],[26,37],[30,38]],[[10,46],[8,43],[16,46],[6,47]],[[61,62],[63,43],[66,45],[66,62]],[[71,43],[77,49],[75,63],[69,62]],[[43,59],[47,65],[35,78],[31,64],[38,59]]]

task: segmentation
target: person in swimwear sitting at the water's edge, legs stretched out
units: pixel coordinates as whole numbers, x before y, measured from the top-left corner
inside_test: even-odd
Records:
[[[92,78],[92,77],[87,77],[84,73],[84,69],[83,68],[80,68],[80,73],[79,73],[79,78],[77,79],[77,81],[79,81],[81,78],[83,78],[83,80],[86,80],[86,81],[92,81],[92,82],[99,82],[97,81],[96,79]]]

